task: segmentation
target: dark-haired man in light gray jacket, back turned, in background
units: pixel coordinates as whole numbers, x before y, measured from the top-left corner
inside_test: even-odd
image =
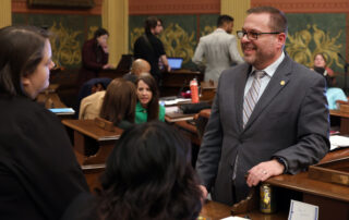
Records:
[[[205,58],[205,81],[217,82],[224,70],[243,62],[237,48],[237,39],[231,35],[233,19],[229,15],[220,15],[217,21],[217,29],[200,38],[192,60],[202,68]]]

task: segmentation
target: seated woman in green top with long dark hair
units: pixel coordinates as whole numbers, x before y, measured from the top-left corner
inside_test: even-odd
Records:
[[[154,77],[148,73],[142,73],[135,84],[139,98],[135,107],[135,123],[165,121],[165,108],[159,105],[159,91]]]

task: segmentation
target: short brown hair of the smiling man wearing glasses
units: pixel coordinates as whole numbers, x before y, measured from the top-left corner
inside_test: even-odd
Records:
[[[285,33],[287,35],[288,26],[285,13],[273,7],[256,7],[248,10],[248,14],[270,14],[269,27],[272,32]]]

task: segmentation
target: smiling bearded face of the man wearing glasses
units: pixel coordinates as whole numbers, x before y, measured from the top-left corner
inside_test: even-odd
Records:
[[[254,33],[275,32],[269,26],[268,13],[252,13],[244,21],[242,30]],[[286,40],[284,33],[260,35],[257,39],[249,39],[245,35],[241,38],[241,48],[244,60],[257,70],[263,70],[276,61],[282,52]]]

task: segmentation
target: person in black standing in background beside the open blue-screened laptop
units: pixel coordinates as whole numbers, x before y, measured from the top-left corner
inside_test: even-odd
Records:
[[[151,74],[158,85],[161,82],[161,72],[159,69],[159,60],[165,69],[170,72],[171,68],[168,65],[164,45],[158,36],[163,30],[163,22],[156,16],[149,16],[144,25],[145,34],[139,37],[134,42],[134,59],[142,58],[151,63]]]

